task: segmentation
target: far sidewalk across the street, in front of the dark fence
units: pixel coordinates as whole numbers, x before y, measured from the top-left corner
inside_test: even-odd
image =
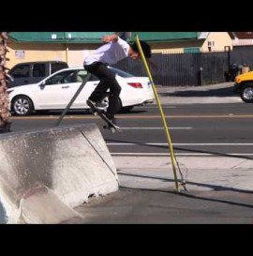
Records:
[[[212,104],[243,102],[233,92],[234,83],[202,86],[156,86],[161,104]],[[156,100],[153,104],[156,104]]]

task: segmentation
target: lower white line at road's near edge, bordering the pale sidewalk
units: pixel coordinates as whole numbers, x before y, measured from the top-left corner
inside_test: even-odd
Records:
[[[169,153],[111,153],[112,156],[171,156]],[[184,157],[184,156],[189,156],[189,157],[197,157],[197,156],[245,156],[245,157],[251,157],[253,154],[241,154],[241,153],[234,153],[234,154],[227,154],[227,153],[217,153],[217,154],[212,154],[212,153],[175,153],[176,157]]]

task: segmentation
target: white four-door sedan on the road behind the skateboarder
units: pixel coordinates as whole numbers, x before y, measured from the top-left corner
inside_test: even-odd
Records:
[[[134,106],[154,101],[152,84],[147,77],[134,77],[120,69],[111,69],[116,73],[116,79],[122,87],[118,100],[119,109],[130,111]],[[86,76],[87,71],[83,68],[65,68],[39,83],[9,88],[7,92],[11,110],[17,115],[28,115],[37,111],[65,109]],[[70,109],[89,109],[86,100],[98,83],[97,77],[92,76]],[[107,92],[102,100],[107,106],[108,98]]]

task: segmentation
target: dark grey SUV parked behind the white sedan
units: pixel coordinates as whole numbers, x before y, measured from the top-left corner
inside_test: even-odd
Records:
[[[17,64],[8,71],[8,75],[13,79],[8,84],[8,87],[38,83],[63,68],[68,68],[67,63],[63,61],[24,62]]]

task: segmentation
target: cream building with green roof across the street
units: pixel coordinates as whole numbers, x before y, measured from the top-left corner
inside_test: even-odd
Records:
[[[119,32],[120,33],[120,32]],[[153,53],[223,52],[232,48],[228,32],[127,32],[127,40],[136,34],[147,41]],[[102,45],[103,35],[114,32],[12,32],[9,34],[7,68],[29,61],[58,60],[69,67],[82,66],[85,56]]]

